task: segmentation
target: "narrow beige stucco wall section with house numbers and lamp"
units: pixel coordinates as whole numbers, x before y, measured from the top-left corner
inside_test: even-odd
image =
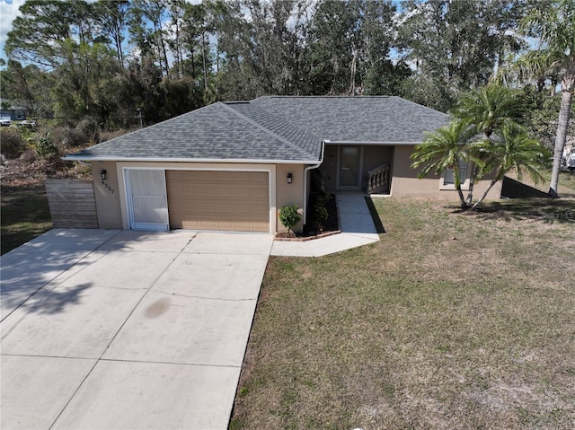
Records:
[[[102,183],[100,173],[106,171],[106,180]],[[103,229],[121,229],[122,214],[118,171],[115,162],[92,162],[93,193],[96,198],[98,225]],[[113,192],[112,192],[113,191]]]

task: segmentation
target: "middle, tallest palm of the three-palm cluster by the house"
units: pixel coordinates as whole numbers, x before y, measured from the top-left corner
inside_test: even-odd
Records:
[[[520,123],[526,113],[526,106],[521,92],[498,83],[490,83],[482,88],[462,94],[451,113],[456,118],[473,123],[489,141],[496,130]],[[482,160],[488,154],[486,152],[487,144],[486,142],[485,145],[482,145],[482,151],[478,153],[477,159]],[[467,193],[467,205],[471,205],[473,201],[475,180],[482,176],[482,171],[484,171],[484,169],[481,171],[480,167],[480,164],[473,166]]]

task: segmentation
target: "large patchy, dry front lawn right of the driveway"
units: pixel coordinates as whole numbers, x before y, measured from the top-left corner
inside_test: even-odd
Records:
[[[232,429],[571,429],[575,200],[374,199],[381,241],[270,258]]]

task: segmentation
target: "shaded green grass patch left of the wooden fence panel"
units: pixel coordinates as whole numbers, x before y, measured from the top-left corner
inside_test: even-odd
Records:
[[[2,187],[2,254],[52,228],[43,185]]]

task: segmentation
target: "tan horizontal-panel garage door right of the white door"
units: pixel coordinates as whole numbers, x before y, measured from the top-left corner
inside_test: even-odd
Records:
[[[270,231],[267,171],[166,171],[170,227]]]

